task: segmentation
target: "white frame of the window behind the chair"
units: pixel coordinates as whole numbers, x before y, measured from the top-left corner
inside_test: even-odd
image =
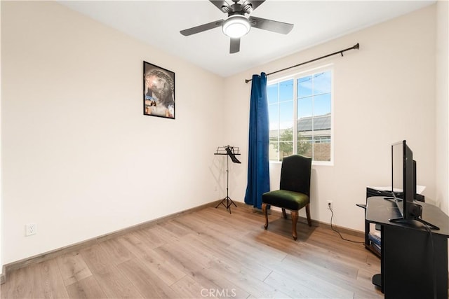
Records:
[[[267,80],[267,85],[272,85],[282,81],[287,81],[293,79],[293,120],[297,120],[297,79],[311,76],[313,74],[319,73],[320,71],[330,71],[330,161],[315,161],[312,160],[312,165],[324,165],[333,166],[334,165],[334,144],[335,144],[335,134],[334,134],[334,68],[333,64],[326,64],[321,67],[315,67],[313,69],[307,69],[304,71],[290,71],[289,74],[285,72],[282,75],[271,76]],[[297,152],[297,134],[293,134],[293,153]],[[281,163],[282,161],[270,160],[270,163]]]

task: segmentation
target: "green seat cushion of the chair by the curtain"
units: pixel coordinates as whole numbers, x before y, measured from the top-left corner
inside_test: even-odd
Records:
[[[275,190],[262,194],[262,202],[285,209],[299,210],[309,203],[309,196],[294,191]]]

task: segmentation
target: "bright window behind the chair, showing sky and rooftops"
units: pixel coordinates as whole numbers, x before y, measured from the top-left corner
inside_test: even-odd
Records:
[[[267,85],[269,160],[299,153],[328,164],[333,160],[332,70],[321,69]]]

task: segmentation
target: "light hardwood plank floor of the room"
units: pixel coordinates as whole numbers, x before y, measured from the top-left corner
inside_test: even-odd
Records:
[[[8,273],[1,298],[383,298],[380,260],[328,228],[208,207]],[[347,236],[360,242],[363,239]]]

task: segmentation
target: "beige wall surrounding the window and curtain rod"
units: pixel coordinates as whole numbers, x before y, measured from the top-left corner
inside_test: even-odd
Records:
[[[311,217],[364,229],[366,186],[391,183],[391,143],[406,139],[417,160],[425,195],[436,197],[435,183],[435,6],[343,36],[226,79],[227,139],[248,150],[248,109],[252,74],[283,69],[360,43],[351,50],[297,70],[333,64],[335,161],[314,166]],[[242,156],[243,165],[248,158]],[[280,164],[271,165],[271,186],[278,188]],[[246,169],[233,177],[231,197],[243,201]],[[304,211],[302,211],[304,216]]]

